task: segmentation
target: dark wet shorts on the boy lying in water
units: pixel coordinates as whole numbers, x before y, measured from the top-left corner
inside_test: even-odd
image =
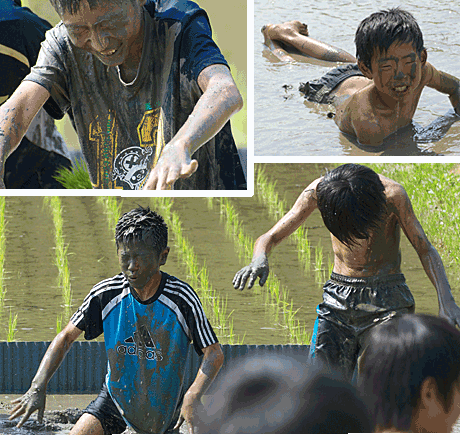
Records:
[[[319,104],[330,104],[334,98],[331,93],[339,84],[352,76],[364,76],[357,64],[339,66],[319,79],[307,83],[300,83],[299,90],[309,101]]]

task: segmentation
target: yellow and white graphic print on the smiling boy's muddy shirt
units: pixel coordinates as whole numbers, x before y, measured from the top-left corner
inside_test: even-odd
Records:
[[[165,146],[164,113],[161,107],[146,105],[137,126],[138,146],[127,146],[118,154],[118,126],[115,112],[97,117],[89,126],[89,140],[95,142],[97,181],[96,188],[133,189],[142,187],[148,173],[158,162]],[[149,164],[152,164],[151,167]]]

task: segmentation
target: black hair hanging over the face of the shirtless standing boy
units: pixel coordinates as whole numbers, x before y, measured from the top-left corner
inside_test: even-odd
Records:
[[[347,246],[368,239],[386,212],[383,183],[364,165],[345,164],[329,171],[318,183],[316,196],[327,229]]]

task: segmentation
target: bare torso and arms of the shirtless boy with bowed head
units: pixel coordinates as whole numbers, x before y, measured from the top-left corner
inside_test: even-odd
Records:
[[[331,234],[334,251],[334,272],[349,277],[401,273],[399,249],[400,230],[417,252],[422,266],[436,288],[439,314],[452,323],[460,324],[460,308],[455,304],[442,260],[431,245],[412,209],[404,188],[397,182],[379,176],[385,188],[387,213],[381,226],[370,232],[368,240],[357,240],[348,247]],[[239,270],[233,278],[233,287],[243,290],[259,277],[263,285],[268,277],[268,255],[270,251],[291,235],[317,208],[316,187],[321,178],[312,182],[299,196],[291,210],[268,232],[261,235],[254,245],[252,262]]]

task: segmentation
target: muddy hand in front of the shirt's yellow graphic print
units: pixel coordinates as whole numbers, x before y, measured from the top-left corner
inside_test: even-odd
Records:
[[[187,149],[166,145],[142,189],[172,189],[176,180],[190,177],[197,168],[198,162]]]

